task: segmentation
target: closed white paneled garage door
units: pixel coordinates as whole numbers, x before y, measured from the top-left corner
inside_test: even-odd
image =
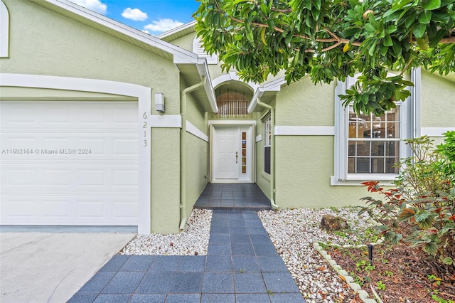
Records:
[[[137,106],[0,101],[0,223],[137,225]]]

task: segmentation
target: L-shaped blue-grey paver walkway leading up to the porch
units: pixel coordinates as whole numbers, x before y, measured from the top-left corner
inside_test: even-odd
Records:
[[[207,255],[116,255],[70,302],[305,301],[257,213],[214,210]]]

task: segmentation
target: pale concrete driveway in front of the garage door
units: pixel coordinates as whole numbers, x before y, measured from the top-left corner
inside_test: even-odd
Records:
[[[0,302],[66,302],[135,233],[0,233]]]

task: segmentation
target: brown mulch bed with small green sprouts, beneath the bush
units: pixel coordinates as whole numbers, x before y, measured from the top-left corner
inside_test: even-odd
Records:
[[[374,297],[372,285],[383,302],[453,303],[455,300],[455,272],[438,277],[424,261],[424,252],[404,243],[375,245],[374,267],[370,266],[367,248],[326,250],[370,297]]]

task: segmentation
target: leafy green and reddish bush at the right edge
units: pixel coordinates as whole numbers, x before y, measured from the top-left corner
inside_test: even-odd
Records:
[[[413,155],[398,164],[401,172],[395,188],[364,182],[384,201],[362,198],[367,206],[359,212],[380,223],[386,241],[405,240],[426,252],[441,275],[455,268],[455,132],[444,137],[437,149],[428,137],[406,140]]]

